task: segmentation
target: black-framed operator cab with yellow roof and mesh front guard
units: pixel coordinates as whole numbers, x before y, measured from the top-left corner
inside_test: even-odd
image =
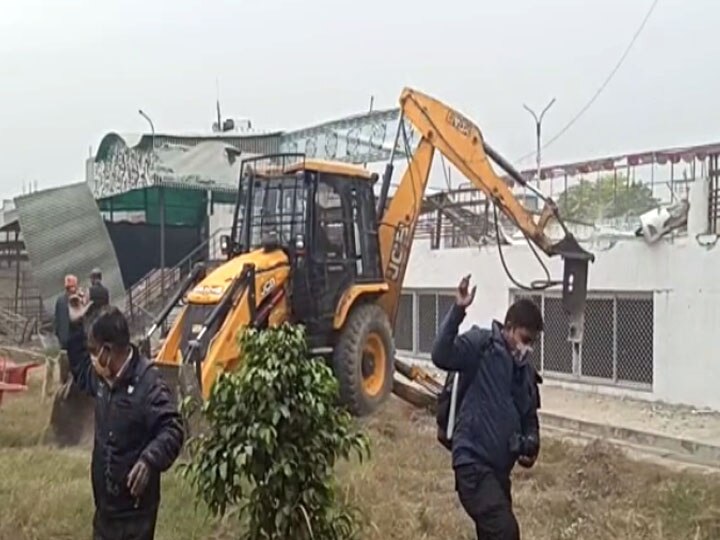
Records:
[[[228,258],[283,250],[293,268],[292,312],[311,345],[328,343],[333,316],[350,286],[382,282],[373,187],[377,174],[342,163],[281,154],[246,159]]]

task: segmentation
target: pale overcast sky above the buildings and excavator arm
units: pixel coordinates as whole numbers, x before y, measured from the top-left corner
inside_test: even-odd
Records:
[[[293,129],[394,106],[410,85],[465,112],[508,158],[549,138],[613,68],[651,0],[4,0],[0,195],[84,179],[108,131]],[[546,163],[720,140],[720,2],[660,0]]]

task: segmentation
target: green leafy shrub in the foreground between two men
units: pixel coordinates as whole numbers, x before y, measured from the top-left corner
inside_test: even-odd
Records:
[[[365,435],[337,406],[338,383],[310,358],[302,327],[240,336],[242,367],[223,374],[202,406],[183,473],[216,516],[238,509],[250,540],[356,537],[355,511],[337,498],[334,466],[368,455]]]

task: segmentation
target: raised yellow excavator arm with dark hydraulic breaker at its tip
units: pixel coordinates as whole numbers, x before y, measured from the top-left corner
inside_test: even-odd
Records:
[[[419,133],[420,142],[392,200],[386,205],[392,175],[391,160],[383,177],[378,202],[378,215],[381,216],[378,231],[380,252],[385,280],[389,286],[387,293],[380,298],[380,304],[390,321],[394,323],[397,316],[415,227],[420,216],[433,154],[437,150],[476,188],[485,193],[530,242],[546,255],[559,255],[564,259],[562,282],[546,282],[535,288],[545,289],[550,285],[562,284],[563,307],[570,319],[569,339],[575,343],[581,342],[588,265],[594,261],[594,255],[585,251],[567,230],[558,215],[555,203],[543,197],[545,206],[536,221],[535,216],[520,204],[508,182],[498,176],[490,160],[518,184],[528,186],[525,179],[487,144],[480,129],[461,113],[409,88],[403,90],[400,107],[398,135],[393,150],[400,141],[404,120],[409,121]],[[551,219],[556,221],[565,233],[564,238],[558,242],[552,242],[545,233]]]

